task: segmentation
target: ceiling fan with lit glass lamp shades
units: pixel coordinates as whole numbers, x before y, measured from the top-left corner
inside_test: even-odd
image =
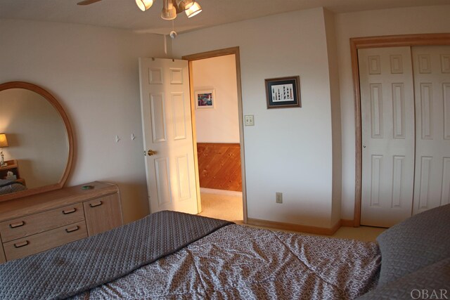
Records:
[[[101,0],[84,0],[79,1],[78,5],[89,5],[99,2]],[[177,13],[186,13],[188,18],[197,15],[202,11],[200,4],[195,0],[162,0],[164,6],[162,7],[161,18],[164,20],[174,20]],[[141,11],[146,11],[153,5],[153,0],[136,0],[136,5]]]

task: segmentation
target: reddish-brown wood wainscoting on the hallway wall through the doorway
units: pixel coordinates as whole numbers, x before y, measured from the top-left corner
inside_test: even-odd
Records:
[[[197,143],[200,188],[242,191],[240,144]]]

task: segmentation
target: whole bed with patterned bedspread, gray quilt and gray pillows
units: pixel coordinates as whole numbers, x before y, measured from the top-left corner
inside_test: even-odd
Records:
[[[0,299],[420,299],[450,290],[449,232],[450,205],[377,243],[160,211],[0,265]]]

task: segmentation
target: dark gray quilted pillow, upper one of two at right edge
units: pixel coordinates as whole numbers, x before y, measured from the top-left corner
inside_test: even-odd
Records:
[[[381,251],[378,285],[450,257],[450,204],[416,214],[377,237]]]

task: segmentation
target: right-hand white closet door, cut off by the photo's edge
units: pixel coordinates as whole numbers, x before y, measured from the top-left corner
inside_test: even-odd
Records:
[[[412,48],[416,93],[413,213],[450,203],[450,46]]]

